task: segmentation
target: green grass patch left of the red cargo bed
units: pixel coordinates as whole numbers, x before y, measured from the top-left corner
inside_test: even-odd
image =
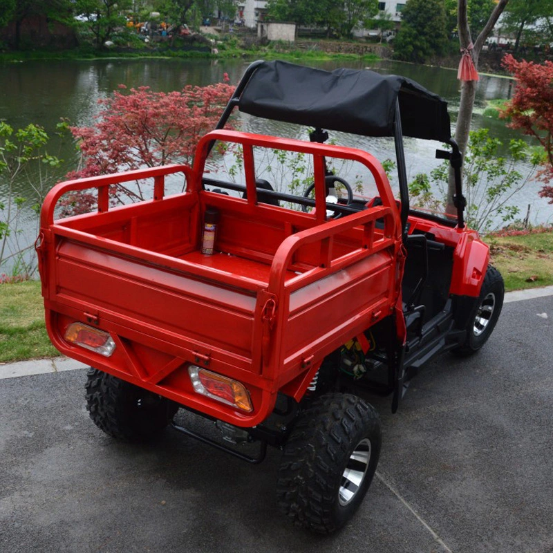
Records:
[[[46,333],[40,283],[0,284],[0,362],[56,355]]]

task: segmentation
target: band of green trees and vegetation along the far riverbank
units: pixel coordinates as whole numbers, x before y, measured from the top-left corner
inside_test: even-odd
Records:
[[[505,13],[500,31],[492,33],[488,21],[497,4]],[[377,0],[270,0],[262,20],[294,22],[297,39],[380,43],[392,46],[395,52],[389,53],[396,59],[432,64],[442,59],[449,65],[449,57],[458,62],[459,37],[461,47],[468,46],[458,20],[458,13],[466,12],[476,66],[479,55],[486,55],[486,68],[496,69],[506,51],[525,59],[550,56],[553,4],[548,0],[409,0],[397,4],[401,22],[383,5]],[[255,56],[266,39],[245,27],[240,6],[235,0],[4,0],[0,59]],[[355,39],[357,31],[365,37]],[[480,44],[476,38],[482,32]],[[262,52],[272,57],[271,48]],[[288,51],[279,48],[279,57],[288,59],[335,57],[328,51],[312,56],[293,44]]]

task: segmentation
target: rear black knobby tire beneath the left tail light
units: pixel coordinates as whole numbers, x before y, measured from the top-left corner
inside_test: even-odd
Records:
[[[90,368],[86,377],[86,409],[91,419],[118,440],[151,440],[178,411],[178,405],[167,398],[95,368]]]

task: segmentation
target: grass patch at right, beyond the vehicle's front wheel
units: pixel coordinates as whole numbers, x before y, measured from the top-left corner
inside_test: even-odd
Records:
[[[487,236],[493,263],[506,290],[553,285],[553,232],[521,236]]]

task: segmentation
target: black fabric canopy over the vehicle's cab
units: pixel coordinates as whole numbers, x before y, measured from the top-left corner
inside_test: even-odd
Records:
[[[403,134],[447,142],[447,102],[399,75],[262,62],[243,90],[240,111],[277,121],[365,136],[393,136],[395,100]]]

